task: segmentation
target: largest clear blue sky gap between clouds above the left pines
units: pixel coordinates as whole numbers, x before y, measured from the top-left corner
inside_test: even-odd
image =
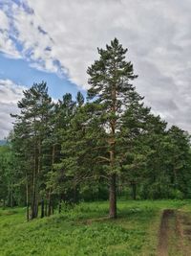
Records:
[[[67,92],[75,96],[79,90],[84,95],[86,94],[64,75],[60,78],[56,74],[32,68],[30,63],[24,59],[6,58],[2,54],[0,54],[0,79],[9,79],[27,87],[32,86],[33,82],[47,81],[50,95],[54,99],[61,98]]]

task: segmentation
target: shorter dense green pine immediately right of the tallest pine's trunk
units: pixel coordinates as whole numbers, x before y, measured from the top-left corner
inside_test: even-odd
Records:
[[[137,187],[146,173],[147,157],[150,148],[145,143],[148,133],[150,108],[139,101],[134,101],[122,116],[120,138],[118,140],[118,155],[120,158],[120,179],[125,186],[132,188],[132,198],[137,198]]]

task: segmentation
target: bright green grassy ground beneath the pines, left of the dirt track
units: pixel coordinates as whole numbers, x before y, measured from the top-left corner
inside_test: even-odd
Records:
[[[189,213],[190,205],[180,200],[119,201],[115,221],[107,219],[108,202],[80,203],[61,215],[30,222],[25,209],[0,209],[0,255],[156,255],[162,210]]]

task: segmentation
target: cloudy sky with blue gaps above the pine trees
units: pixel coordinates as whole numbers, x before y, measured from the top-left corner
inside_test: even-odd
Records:
[[[84,95],[86,70],[115,37],[128,48],[145,105],[191,131],[190,0],[0,0],[0,139],[22,91]]]

